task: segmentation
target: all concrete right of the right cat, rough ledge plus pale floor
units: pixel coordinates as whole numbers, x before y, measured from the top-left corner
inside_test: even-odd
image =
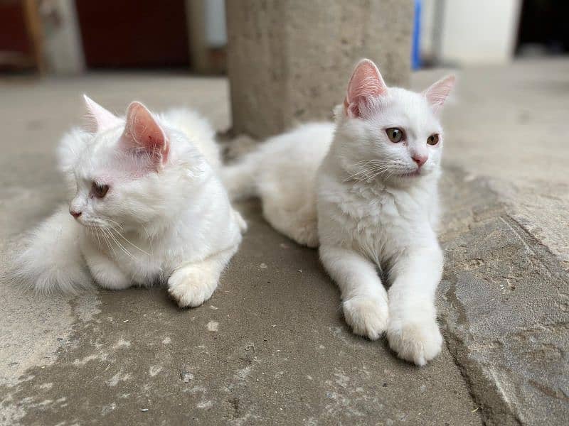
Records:
[[[441,317],[489,424],[569,417],[568,89],[567,60],[473,68],[445,113]]]

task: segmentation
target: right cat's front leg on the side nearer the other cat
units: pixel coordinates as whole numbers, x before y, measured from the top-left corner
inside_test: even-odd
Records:
[[[376,266],[356,251],[320,246],[324,268],[341,290],[346,322],[355,334],[378,339],[388,324],[388,296]]]

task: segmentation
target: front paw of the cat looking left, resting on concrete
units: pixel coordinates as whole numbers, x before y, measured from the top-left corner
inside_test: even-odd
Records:
[[[208,300],[218,285],[218,275],[208,268],[184,266],[168,280],[168,293],[179,307],[196,307]]]

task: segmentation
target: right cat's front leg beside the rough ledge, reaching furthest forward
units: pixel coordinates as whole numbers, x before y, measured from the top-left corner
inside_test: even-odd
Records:
[[[406,250],[390,270],[389,345],[400,358],[420,366],[442,347],[435,308],[442,265],[442,251],[435,242],[425,249]]]

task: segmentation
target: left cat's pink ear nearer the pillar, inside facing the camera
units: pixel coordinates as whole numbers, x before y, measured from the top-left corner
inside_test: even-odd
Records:
[[[127,124],[121,136],[122,147],[149,156],[154,165],[168,160],[170,144],[156,118],[140,102],[132,102],[127,109]]]

